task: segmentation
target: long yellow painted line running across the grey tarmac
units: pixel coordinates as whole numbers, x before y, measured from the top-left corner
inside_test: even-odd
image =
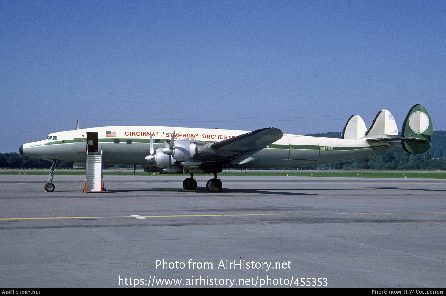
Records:
[[[402,212],[402,213],[302,213],[302,214],[209,214],[209,215],[153,215],[146,218],[163,217],[235,217],[235,216],[310,216],[310,215],[388,215],[388,214],[446,214],[446,212]],[[38,220],[38,219],[93,219],[93,218],[135,218],[132,216],[95,216],[95,217],[35,217],[35,218],[0,218],[0,220]]]

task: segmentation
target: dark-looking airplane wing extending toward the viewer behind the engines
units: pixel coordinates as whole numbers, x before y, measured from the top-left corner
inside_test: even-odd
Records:
[[[256,154],[266,146],[280,140],[282,137],[283,133],[280,129],[269,127],[213,143],[211,148],[217,154],[219,152],[222,154],[233,154],[234,156],[225,165],[235,165]]]

